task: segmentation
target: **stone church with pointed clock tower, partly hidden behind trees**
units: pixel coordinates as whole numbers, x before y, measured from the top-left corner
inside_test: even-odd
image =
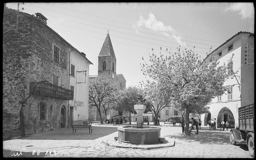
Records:
[[[116,56],[110,40],[109,33],[107,34],[105,41],[102,45],[101,51],[98,56],[98,75],[106,74],[110,79],[113,79],[118,84],[117,92],[126,88],[126,80],[122,74],[116,74]],[[90,75],[91,78],[96,78],[98,75]],[[104,117],[104,109],[101,111],[103,121],[109,116],[118,115],[118,111],[110,109],[107,112],[107,117]],[[128,114],[129,115],[129,114]],[[89,120],[99,121],[99,113],[95,106],[89,106]]]

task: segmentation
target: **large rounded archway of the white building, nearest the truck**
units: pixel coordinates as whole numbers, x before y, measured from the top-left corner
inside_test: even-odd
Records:
[[[233,113],[227,107],[223,107],[218,114],[216,128],[220,128],[220,122],[223,120],[224,122],[228,121],[228,128],[235,128],[235,119]]]

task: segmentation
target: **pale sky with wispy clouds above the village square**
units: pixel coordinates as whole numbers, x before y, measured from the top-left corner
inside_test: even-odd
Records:
[[[93,63],[89,75],[98,74],[98,55],[109,31],[116,73],[123,74],[126,88],[145,80],[140,64],[148,63],[149,53],[165,55],[180,46],[205,58],[238,32],[254,33],[253,3],[19,4],[21,12],[43,14],[50,28],[86,54]],[[6,7],[17,10],[18,3]]]

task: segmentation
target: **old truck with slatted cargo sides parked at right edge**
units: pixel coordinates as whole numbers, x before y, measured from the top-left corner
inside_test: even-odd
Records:
[[[254,157],[254,103],[238,108],[239,126],[230,130],[230,142],[246,142],[248,150]]]

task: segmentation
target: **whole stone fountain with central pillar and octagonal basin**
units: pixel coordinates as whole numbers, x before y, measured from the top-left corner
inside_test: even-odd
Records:
[[[145,100],[140,95],[136,100],[134,109],[137,112],[136,126],[118,127],[118,141],[131,144],[157,144],[160,143],[160,127],[143,126],[143,112],[146,106],[143,105]],[[165,141],[165,139],[164,139]]]

